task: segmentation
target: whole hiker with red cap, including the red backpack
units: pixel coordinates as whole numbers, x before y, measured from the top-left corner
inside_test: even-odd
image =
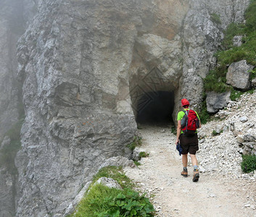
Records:
[[[181,175],[184,177],[188,176],[188,170],[187,170],[187,164],[188,164],[188,153],[190,154],[191,157],[191,162],[192,165],[194,166],[194,175],[193,175],[193,182],[197,182],[199,179],[199,171],[197,167],[197,157],[196,153],[198,148],[198,137],[197,137],[197,128],[201,127],[201,122],[199,119],[199,116],[197,112],[189,109],[189,101],[186,98],[183,98],[181,100],[181,107],[183,108],[183,111],[178,112],[178,127],[177,127],[177,140],[176,144],[180,142],[181,148],[183,149],[181,154],[182,154],[182,163],[183,163],[183,171],[181,172]],[[190,119],[195,119],[192,120],[192,122],[197,122],[196,126],[192,126],[192,130],[188,130],[187,126],[188,122],[186,119],[186,116],[188,116]],[[191,118],[191,114],[194,114]],[[186,116],[185,116],[186,115]],[[185,120],[186,119],[186,120]],[[183,123],[186,122],[186,123]]]

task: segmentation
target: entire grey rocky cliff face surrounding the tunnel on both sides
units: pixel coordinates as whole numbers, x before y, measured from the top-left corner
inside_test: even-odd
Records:
[[[173,116],[181,97],[199,107],[202,77],[215,67],[212,54],[223,30],[243,20],[249,0],[23,3],[27,27],[17,60],[25,123],[15,161],[17,216],[62,216],[104,161],[131,155],[126,145],[146,106],[139,101],[143,95],[150,101],[158,91],[172,92]],[[215,14],[221,22],[212,19]],[[1,109],[0,116],[11,111]],[[1,126],[6,122],[1,119]]]

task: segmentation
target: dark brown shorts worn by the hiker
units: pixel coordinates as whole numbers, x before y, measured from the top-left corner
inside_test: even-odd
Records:
[[[183,155],[186,155],[187,153],[195,155],[197,153],[197,150],[199,150],[197,133],[195,133],[194,135],[181,134],[180,144],[181,144],[181,148],[183,149],[182,151]]]

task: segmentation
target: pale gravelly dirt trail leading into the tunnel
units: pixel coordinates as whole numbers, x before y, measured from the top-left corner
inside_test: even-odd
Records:
[[[153,195],[158,216],[256,216],[255,208],[248,205],[256,201],[255,182],[229,179],[218,171],[200,174],[199,182],[192,182],[191,166],[189,177],[181,176],[181,157],[170,129],[144,126],[139,133],[141,148],[149,157],[141,160],[139,168],[125,168],[125,174]],[[252,197],[254,201],[248,201]]]

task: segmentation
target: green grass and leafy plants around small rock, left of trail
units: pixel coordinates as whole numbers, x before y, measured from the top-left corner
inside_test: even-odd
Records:
[[[123,190],[94,184],[100,177],[115,179]],[[120,167],[108,166],[94,176],[90,191],[80,201],[72,216],[76,217],[113,217],[113,216],[154,216],[153,205],[145,195],[132,190],[133,182]]]

